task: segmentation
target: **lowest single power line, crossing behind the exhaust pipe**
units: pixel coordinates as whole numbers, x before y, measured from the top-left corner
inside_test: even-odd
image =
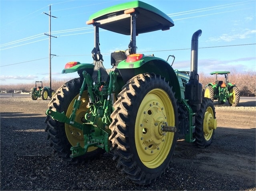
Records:
[[[219,47],[231,47],[231,46],[246,46],[246,45],[256,45],[256,43],[252,44],[237,44],[237,45],[224,45],[224,46],[209,46],[209,47],[199,47],[199,49],[204,49],[204,48],[219,48]],[[169,50],[155,50],[155,51],[141,51],[141,53],[144,52],[163,52],[163,51],[179,51],[179,50],[190,50],[190,48],[183,48],[183,49],[169,49]],[[103,53],[103,55],[109,55],[110,53]],[[90,56],[91,54],[80,54],[80,55],[58,55],[57,57],[67,57],[67,56]],[[48,58],[48,57],[46,57]],[[26,63],[26,62],[32,62],[32,61],[37,61],[37,60],[42,60],[46,58],[40,58],[40,59],[35,59],[35,60],[30,60],[30,61],[24,61],[24,62],[19,62],[19,63],[14,63],[14,64],[8,64],[4,66],[10,66],[10,65],[15,65],[15,64],[21,64],[21,63]],[[0,66],[0,67],[4,67]]]

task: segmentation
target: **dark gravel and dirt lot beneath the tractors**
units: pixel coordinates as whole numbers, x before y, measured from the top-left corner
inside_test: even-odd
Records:
[[[125,178],[113,154],[85,164],[59,159],[46,141],[50,100],[0,96],[0,190],[256,190],[256,101],[216,105],[213,144],[177,142],[166,174],[147,186]]]

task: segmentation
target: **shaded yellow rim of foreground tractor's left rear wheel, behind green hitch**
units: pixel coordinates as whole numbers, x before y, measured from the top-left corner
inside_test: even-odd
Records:
[[[74,102],[75,100],[78,98],[79,95],[75,96],[75,98],[71,101],[71,103],[69,104],[66,116],[70,117],[70,115],[72,114],[73,111],[73,106],[74,106]],[[87,91],[84,91],[83,95],[81,96],[81,104],[79,109],[76,112],[76,117],[75,117],[75,121],[83,124],[83,122],[85,122],[85,114],[87,113],[87,104],[89,101],[89,97],[87,95]],[[72,146],[76,146],[77,142],[80,143],[81,147],[85,146],[85,142],[84,142],[84,136],[83,136],[83,131],[75,128],[67,123],[65,123],[65,131],[66,131],[66,135],[67,138],[69,140],[69,143]],[[89,147],[88,148],[88,152],[91,152],[93,150],[97,149],[97,147]]]

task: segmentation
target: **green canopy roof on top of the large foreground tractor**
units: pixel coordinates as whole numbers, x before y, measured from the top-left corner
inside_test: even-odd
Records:
[[[89,17],[87,24],[97,23],[99,28],[124,35],[131,34],[130,13],[136,18],[136,33],[168,30],[173,20],[157,8],[141,1],[132,1],[105,8]]]

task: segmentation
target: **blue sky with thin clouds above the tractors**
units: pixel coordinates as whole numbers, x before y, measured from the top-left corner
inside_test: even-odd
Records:
[[[173,68],[190,71],[191,36],[201,29],[198,73],[256,71],[256,0],[142,1],[175,26],[138,35],[137,53],[165,60],[174,55]],[[89,16],[124,2],[129,0],[0,0],[0,85],[49,81],[49,5],[56,17],[51,18],[51,80],[68,81],[79,76],[62,74],[66,63],[93,63]],[[100,30],[105,68],[111,68],[111,52],[127,49],[129,41],[129,35]]]

